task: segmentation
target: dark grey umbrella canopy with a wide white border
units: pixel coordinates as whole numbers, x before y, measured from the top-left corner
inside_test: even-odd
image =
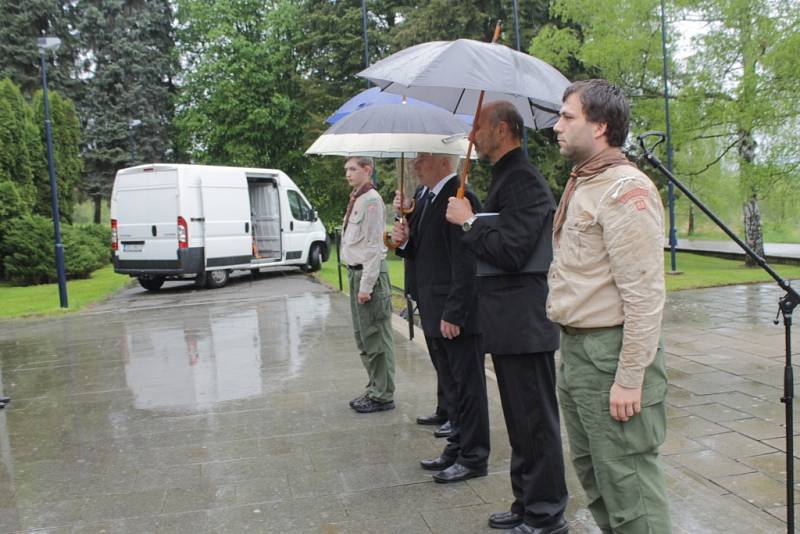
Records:
[[[464,121],[437,107],[374,105],[328,128],[306,154],[399,158],[431,152],[464,157],[468,130]]]

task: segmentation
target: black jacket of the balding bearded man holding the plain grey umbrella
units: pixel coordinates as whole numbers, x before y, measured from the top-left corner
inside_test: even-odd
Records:
[[[547,182],[521,148],[500,158],[483,209],[496,224],[478,218],[462,241],[482,261],[519,271],[534,252],[552,261],[555,200]],[[558,327],[545,312],[547,274],[508,274],[478,279],[484,348],[492,354],[529,354],[558,348]]]

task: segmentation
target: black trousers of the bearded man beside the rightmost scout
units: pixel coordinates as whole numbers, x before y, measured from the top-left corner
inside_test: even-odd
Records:
[[[559,521],[567,505],[554,353],[492,354],[511,442],[511,511],[526,524]]]

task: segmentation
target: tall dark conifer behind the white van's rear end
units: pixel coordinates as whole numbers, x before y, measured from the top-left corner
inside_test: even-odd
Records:
[[[118,169],[173,158],[174,14],[169,0],[82,0],[76,9],[82,36],[82,192],[94,199],[99,222],[100,201],[108,198]]]

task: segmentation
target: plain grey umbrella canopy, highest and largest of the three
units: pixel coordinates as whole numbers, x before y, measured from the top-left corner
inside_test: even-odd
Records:
[[[433,41],[406,48],[358,73],[385,92],[424,100],[455,114],[472,114],[484,103],[514,103],[530,128],[558,121],[570,81],[531,55],[471,39]]]

